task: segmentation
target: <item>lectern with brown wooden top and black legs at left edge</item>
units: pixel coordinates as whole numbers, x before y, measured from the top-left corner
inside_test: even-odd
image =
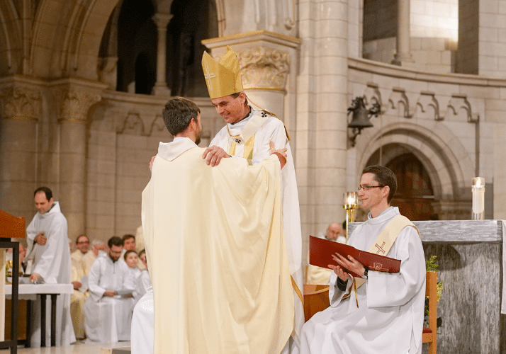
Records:
[[[23,239],[26,234],[25,218],[14,217],[0,210],[0,349],[10,348],[11,354],[18,350],[18,285],[19,285],[19,242],[11,239]],[[5,340],[5,250],[12,248],[12,306],[11,339]]]

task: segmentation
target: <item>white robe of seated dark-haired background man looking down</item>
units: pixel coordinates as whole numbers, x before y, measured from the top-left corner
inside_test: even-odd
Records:
[[[113,343],[130,341],[133,298],[103,296],[106,290],[133,293],[134,282],[125,262],[110,256],[98,257],[89,271],[90,296],[84,305],[84,329],[89,341]]]

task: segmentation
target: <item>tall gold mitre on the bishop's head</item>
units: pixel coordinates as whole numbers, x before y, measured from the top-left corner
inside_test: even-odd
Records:
[[[213,57],[204,52],[202,69],[208,85],[209,98],[225,97],[242,91],[239,60],[228,45],[220,62],[216,62]]]

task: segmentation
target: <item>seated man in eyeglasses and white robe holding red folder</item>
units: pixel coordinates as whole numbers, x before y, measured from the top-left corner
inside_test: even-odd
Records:
[[[330,307],[303,326],[300,354],[421,353],[425,256],[416,227],[391,207],[397,181],[384,166],[364,169],[359,186],[369,209],[349,244],[401,261],[399,273],[367,269],[338,253],[329,265]],[[344,268],[361,275],[353,278]]]

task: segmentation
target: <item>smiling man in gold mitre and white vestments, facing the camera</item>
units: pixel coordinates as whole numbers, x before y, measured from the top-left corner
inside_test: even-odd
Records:
[[[227,123],[203,154],[210,166],[218,165],[220,159],[227,156],[240,156],[252,163],[262,161],[270,154],[270,142],[274,142],[276,149],[287,149],[286,166],[281,171],[281,200],[296,317],[291,341],[286,343],[283,353],[296,354],[304,323],[302,239],[297,181],[288,134],[281,120],[266,110],[249,105],[242,87],[239,61],[230,47],[227,47],[220,62],[204,52],[202,68],[209,98],[216,112]]]

